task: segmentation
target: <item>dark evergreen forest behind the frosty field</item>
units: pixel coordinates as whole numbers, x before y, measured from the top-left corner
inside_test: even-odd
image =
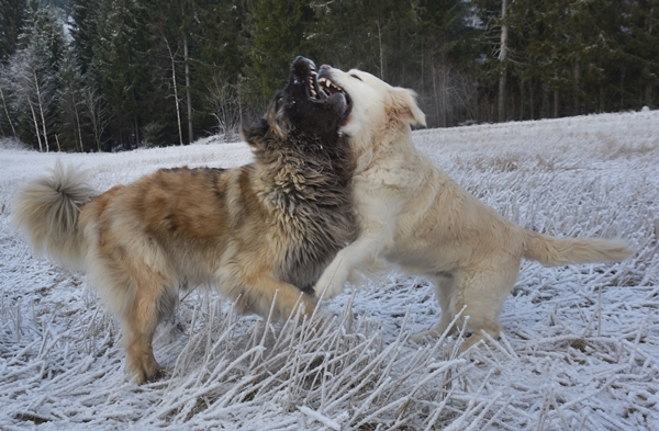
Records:
[[[659,0],[0,0],[0,138],[235,140],[297,55],[414,89],[428,126],[659,105]]]

